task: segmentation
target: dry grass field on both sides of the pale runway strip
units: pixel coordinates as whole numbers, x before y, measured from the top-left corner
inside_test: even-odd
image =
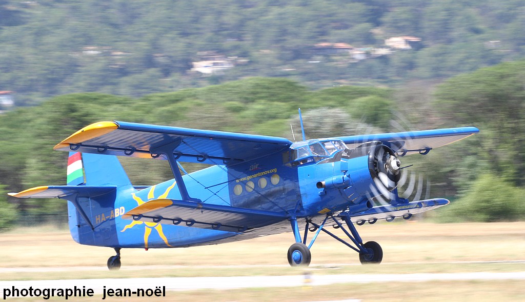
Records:
[[[384,253],[382,264],[362,266],[357,253],[321,234],[311,250],[312,265],[307,269],[291,268],[286,252],[293,236],[286,233],[203,247],[150,249],[147,252],[143,249],[123,249],[121,270],[109,272],[106,261],[114,254],[111,248],[78,245],[72,241],[67,230],[54,227],[20,228],[0,234],[0,279],[298,275],[305,272],[525,272],[524,222],[430,224],[402,221],[358,226],[358,230],[364,241],[381,244]],[[166,300],[174,298],[197,301],[322,301],[350,298],[363,301],[522,301],[525,300],[525,282],[466,280],[201,290],[170,292]],[[93,297],[92,300],[100,300],[100,297]]]

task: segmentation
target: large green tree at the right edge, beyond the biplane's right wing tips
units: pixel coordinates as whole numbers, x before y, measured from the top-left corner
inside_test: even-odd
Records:
[[[484,138],[479,156],[510,182],[525,185],[525,61],[479,69],[445,81],[437,106],[448,119],[474,124]]]

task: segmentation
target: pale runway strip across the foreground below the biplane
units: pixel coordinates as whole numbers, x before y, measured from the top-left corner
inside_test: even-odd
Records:
[[[298,275],[243,277],[170,277],[119,279],[66,279],[2,281],[0,288],[19,290],[46,288],[90,288],[101,294],[106,288],[156,289],[166,291],[198,289],[234,289],[260,287],[320,286],[341,283],[427,282],[432,280],[525,280],[525,272],[514,273],[447,273],[447,274],[355,274],[355,275]]]

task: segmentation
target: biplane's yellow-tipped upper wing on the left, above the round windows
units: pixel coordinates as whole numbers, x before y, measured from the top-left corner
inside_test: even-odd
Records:
[[[129,122],[93,123],[55,146],[55,150],[156,157],[171,144],[178,161],[222,164],[247,161],[285,150],[285,138]]]

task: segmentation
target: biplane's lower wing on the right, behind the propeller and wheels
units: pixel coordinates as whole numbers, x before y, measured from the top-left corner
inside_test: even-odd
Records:
[[[425,211],[434,210],[438,207],[449,204],[446,199],[428,199],[413,201],[408,203],[401,203],[397,205],[380,205],[374,206],[370,210],[361,213],[350,214],[349,212],[342,212],[340,216],[348,216],[352,218],[353,222],[360,221],[375,221],[380,219],[393,219],[395,217],[408,217],[409,215],[423,213]]]

